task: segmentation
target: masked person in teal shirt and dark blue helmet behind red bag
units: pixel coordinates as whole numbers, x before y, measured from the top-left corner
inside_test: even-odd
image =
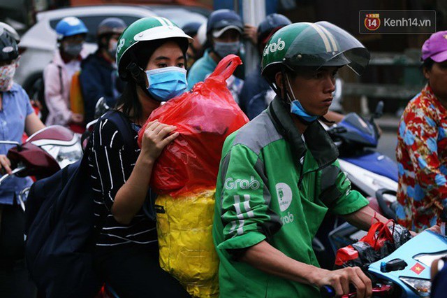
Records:
[[[242,19],[233,10],[219,9],[214,11],[207,21],[207,45],[203,57],[193,64],[188,72],[189,88],[202,82],[210,76],[217,64],[226,55],[240,55],[242,32],[244,24]],[[239,94],[244,85],[243,67],[237,67],[234,76],[227,80],[228,89],[238,103]]]

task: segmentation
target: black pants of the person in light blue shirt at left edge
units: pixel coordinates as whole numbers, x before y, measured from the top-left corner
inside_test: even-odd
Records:
[[[34,298],[36,286],[24,262],[24,212],[17,205],[0,208],[0,297]]]

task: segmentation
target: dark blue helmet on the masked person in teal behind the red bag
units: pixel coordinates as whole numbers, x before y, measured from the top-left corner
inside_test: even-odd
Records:
[[[244,31],[244,24],[240,16],[234,10],[229,9],[218,9],[212,12],[208,17],[207,34],[212,34],[212,31],[219,30],[214,36],[219,37],[228,29],[236,29],[240,33]]]

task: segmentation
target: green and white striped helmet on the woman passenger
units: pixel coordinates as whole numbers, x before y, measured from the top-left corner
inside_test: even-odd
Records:
[[[126,67],[132,61],[131,52],[135,45],[142,41],[156,41],[166,38],[180,38],[184,40],[180,46],[183,52],[188,49],[189,43],[193,41],[180,29],[177,24],[165,17],[143,17],[133,22],[119,36],[116,61],[118,73],[121,78],[127,78]]]

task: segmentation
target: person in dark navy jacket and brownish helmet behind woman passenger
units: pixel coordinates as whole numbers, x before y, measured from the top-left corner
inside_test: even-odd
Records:
[[[89,55],[81,64],[80,84],[84,100],[85,121],[94,120],[98,99],[114,107],[121,95],[124,83],[117,75],[115,52],[119,35],[126,29],[126,23],[117,17],[108,17],[98,25],[98,50]]]

